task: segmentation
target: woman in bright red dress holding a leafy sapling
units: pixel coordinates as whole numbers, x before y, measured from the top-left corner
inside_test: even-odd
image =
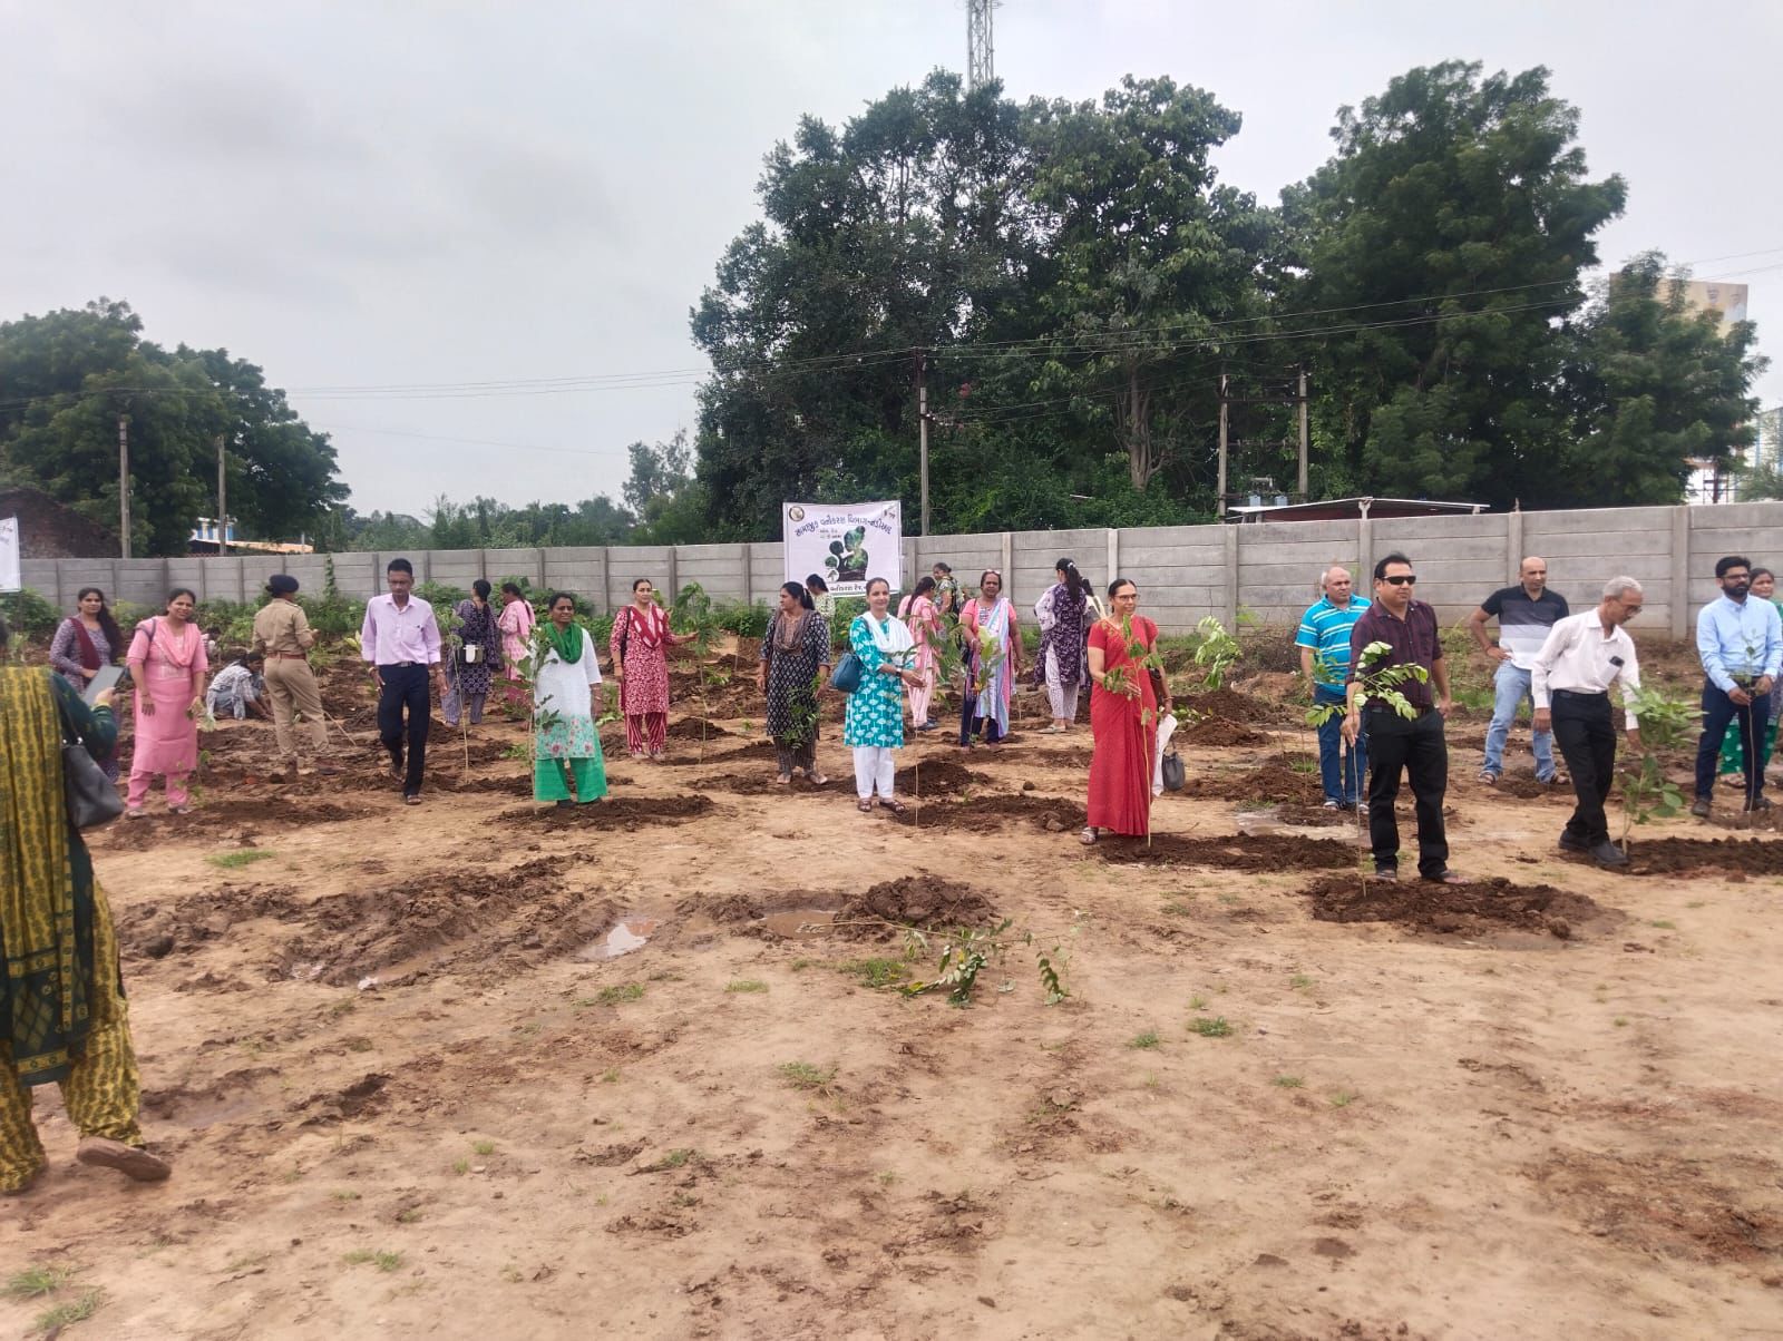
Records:
[[[1125,578],[1109,583],[1111,613],[1089,629],[1089,729],[1097,749],[1089,756],[1089,826],[1084,843],[1098,831],[1150,831],[1152,767],[1159,701],[1154,670],[1141,665],[1157,646],[1157,624],[1136,613],[1139,588]],[[1159,676],[1163,683],[1163,676]],[[1170,690],[1164,690],[1170,712]]]

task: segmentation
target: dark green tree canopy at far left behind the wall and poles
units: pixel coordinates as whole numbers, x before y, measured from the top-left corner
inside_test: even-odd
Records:
[[[317,530],[346,498],[326,433],[310,430],[253,364],[141,337],[128,303],[0,323],[0,476],[34,483],[118,526],[118,419],[130,439],[132,549],[180,555],[216,510],[218,439],[242,533]]]

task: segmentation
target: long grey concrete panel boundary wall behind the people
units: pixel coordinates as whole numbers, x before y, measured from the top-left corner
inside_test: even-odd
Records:
[[[1366,572],[1396,549],[1412,558],[1419,597],[1435,605],[1446,622],[1464,619],[1492,588],[1516,581],[1517,564],[1533,553],[1548,560],[1549,585],[1574,608],[1594,603],[1612,576],[1637,578],[1647,594],[1639,628],[1683,637],[1696,610],[1717,596],[1721,555],[1783,567],[1783,503],[906,537],[904,585],[936,560],[952,564],[966,585],[977,585],[984,569],[1000,569],[1025,612],[1052,581],[1054,564],[1072,558],[1098,592],[1111,576],[1130,578],[1139,585],[1141,608],[1164,631],[1187,633],[1204,615],[1230,624],[1239,612],[1264,624],[1296,622],[1318,596],[1321,569],[1353,569],[1366,592]],[[191,587],[200,599],[251,601],[275,572],[289,572],[305,592],[319,592],[332,562],[335,585],[366,597],[382,590],[390,558],[396,553],[27,558],[23,578],[64,610],[86,585],[137,605],[159,603],[171,587]],[[469,587],[474,578],[526,578],[535,588],[571,590],[603,610],[624,605],[638,578],[663,592],[697,581],[715,601],[763,603],[785,581],[781,546],[768,540],[417,549],[407,558],[421,581]]]

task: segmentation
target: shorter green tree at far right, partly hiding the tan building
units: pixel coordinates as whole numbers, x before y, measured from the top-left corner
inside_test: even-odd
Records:
[[[1569,326],[1564,387],[1574,430],[1558,455],[1544,506],[1680,503],[1692,460],[1728,465],[1756,437],[1749,321],[1721,332],[1690,312],[1683,275],[1649,251],[1610,276]],[[1751,480],[1744,498],[1762,492]]]

